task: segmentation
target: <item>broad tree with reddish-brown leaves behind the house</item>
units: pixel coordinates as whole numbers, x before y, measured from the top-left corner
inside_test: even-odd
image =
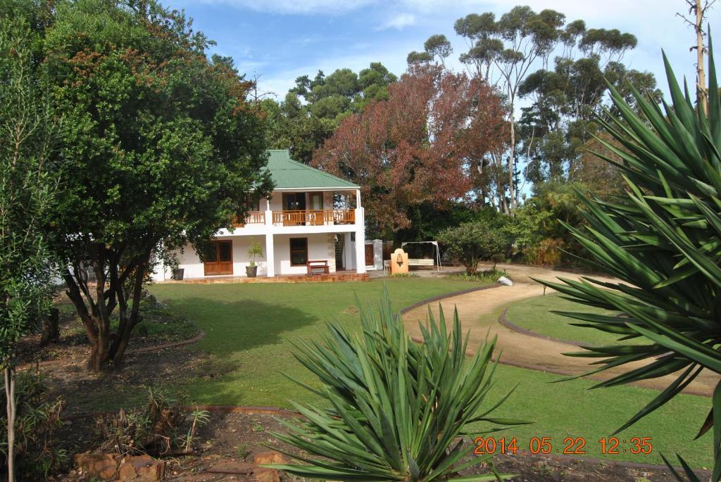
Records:
[[[313,156],[313,164],[361,186],[368,226],[392,233],[407,228],[414,205],[472,197],[479,166],[503,151],[505,110],[495,89],[438,66],[412,68],[342,121]],[[485,175],[485,173],[484,173]],[[484,181],[489,182],[489,181]]]

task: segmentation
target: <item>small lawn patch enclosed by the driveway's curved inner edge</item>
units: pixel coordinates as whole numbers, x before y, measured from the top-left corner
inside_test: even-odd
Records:
[[[556,311],[578,311],[581,313],[597,313],[614,315],[612,311],[590,306],[579,305],[572,301],[565,300],[559,293],[550,293],[545,296],[536,296],[508,307],[508,321],[515,323],[521,328],[534,331],[541,335],[552,336],[578,344],[592,346],[613,344],[618,335],[606,333],[596,329],[572,326],[570,323],[582,323],[581,321],[567,318],[565,316],[550,313]]]

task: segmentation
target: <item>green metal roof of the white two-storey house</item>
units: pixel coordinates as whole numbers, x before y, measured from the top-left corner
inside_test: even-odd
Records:
[[[324,187],[335,189],[358,189],[353,182],[332,176],[311,166],[291,159],[288,149],[270,149],[267,169],[275,182],[275,189],[310,189]]]

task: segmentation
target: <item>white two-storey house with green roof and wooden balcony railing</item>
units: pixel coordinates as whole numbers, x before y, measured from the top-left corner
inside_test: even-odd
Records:
[[[269,151],[267,169],[275,189],[253,203],[247,218],[221,229],[201,262],[189,245],[179,254],[185,280],[245,277],[253,241],[263,246],[258,277],[309,272],[366,272],[366,242],[360,188],[344,179],[293,161],[287,150]],[[360,263],[358,263],[360,260]],[[370,264],[373,264],[372,251]],[[156,281],[172,279],[159,267]]]

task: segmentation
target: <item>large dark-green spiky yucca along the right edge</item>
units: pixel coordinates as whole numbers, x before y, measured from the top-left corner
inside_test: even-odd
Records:
[[[616,163],[604,158],[622,169],[627,196],[601,202],[579,193],[588,228],[567,228],[593,256],[591,267],[621,282],[588,277],[541,281],[578,303],[622,314],[559,313],[579,320],[578,326],[634,340],[570,354],[601,358],[592,373],[645,362],[596,386],[677,374],[617,432],[663,406],[704,368],[721,373],[721,100],[709,50],[708,113],[694,105],[685,81],[681,90],[665,55],[671,105],[663,102],[662,109],[633,90],[637,115],[609,86],[619,116],[606,112],[601,122],[622,147],[599,141],[622,159]],[[718,481],[721,385],[709,403],[707,420],[699,420],[699,437],[713,427],[712,475]],[[687,476],[697,480],[683,460],[681,464]]]

